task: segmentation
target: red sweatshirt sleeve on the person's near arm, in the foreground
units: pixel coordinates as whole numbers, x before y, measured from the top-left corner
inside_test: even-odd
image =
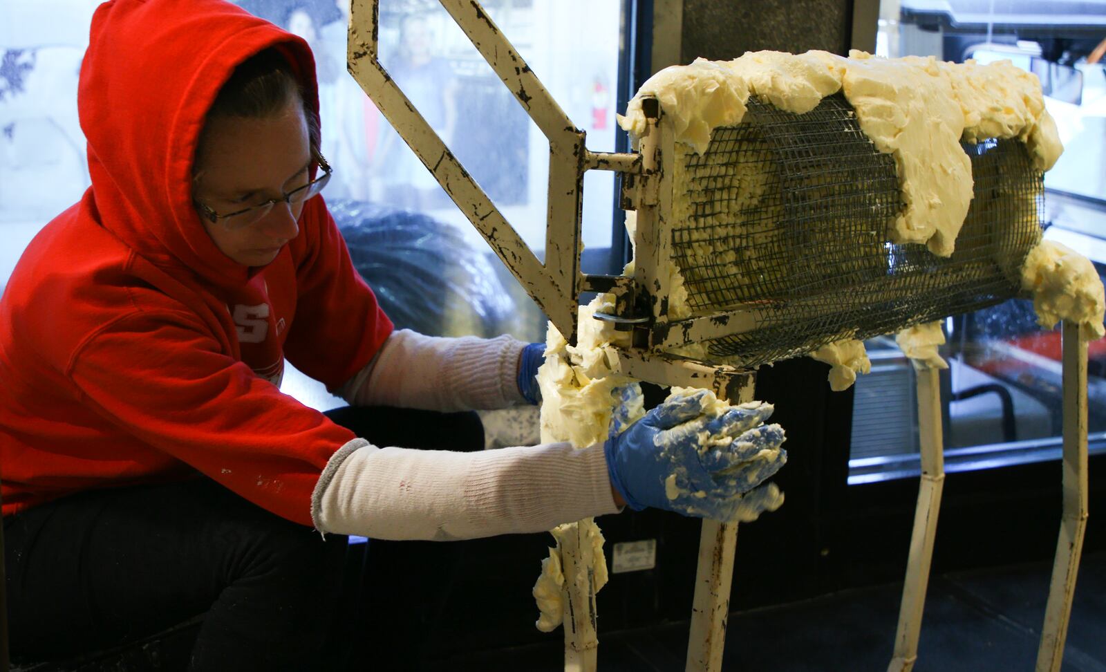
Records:
[[[354,438],[221,354],[184,313],[113,323],[70,375],[83,401],[125,433],[304,525],[320,473]],[[136,462],[142,471],[140,453]]]

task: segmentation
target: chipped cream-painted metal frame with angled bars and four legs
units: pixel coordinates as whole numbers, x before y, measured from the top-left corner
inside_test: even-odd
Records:
[[[348,69],[365,93],[571,343],[575,343],[581,292],[614,288],[626,294],[634,292],[635,285],[644,287],[649,298],[647,333],[644,343],[635,342],[634,349],[619,350],[619,370],[661,385],[713,389],[720,398],[752,400],[751,372],[706,366],[660,351],[676,345],[748,332],[755,326],[757,315],[739,308],[685,321],[668,318],[669,276],[666,269],[671,254],[668,232],[675,153],[659,104],[646,103],[648,130],[640,139],[639,154],[588,151],[584,133],[572,124],[480,4],[476,0],[439,1],[550,141],[545,263],[538,260],[379,63],[378,0],[352,1]],[[633,282],[624,277],[588,276],[580,271],[583,174],[594,169],[624,172],[627,181],[633,182],[626,190],[632,208],[637,210],[638,222]],[[1086,335],[1078,326],[1064,323],[1063,342],[1064,512],[1037,672],[1060,670],[1087,517]],[[936,370],[918,371],[922,479],[895,653],[888,672],[908,672],[917,659],[945,477],[938,390]],[[596,666],[598,639],[591,545],[580,538],[578,525],[575,531],[562,547],[564,574],[566,578],[574,577],[566,581],[565,665],[566,670],[592,672]],[[703,522],[687,654],[689,672],[721,669],[735,543],[735,524]],[[585,568],[586,571],[580,571]]]

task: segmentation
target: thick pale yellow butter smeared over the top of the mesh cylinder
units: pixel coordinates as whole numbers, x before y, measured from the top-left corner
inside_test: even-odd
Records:
[[[925,243],[941,256],[952,253],[972,199],[971,164],[961,140],[1019,138],[1040,170],[1051,168],[1063,150],[1036,76],[1009,61],[980,65],[859,51],[847,59],[823,51],[762,51],[667,67],[646,81],[619,124],[639,136],[641,98],[655,96],[676,140],[702,153],[711,130],[741,123],[750,95],[802,114],[837,92],[875,147],[895,158],[905,207],[888,222],[888,239]]]

